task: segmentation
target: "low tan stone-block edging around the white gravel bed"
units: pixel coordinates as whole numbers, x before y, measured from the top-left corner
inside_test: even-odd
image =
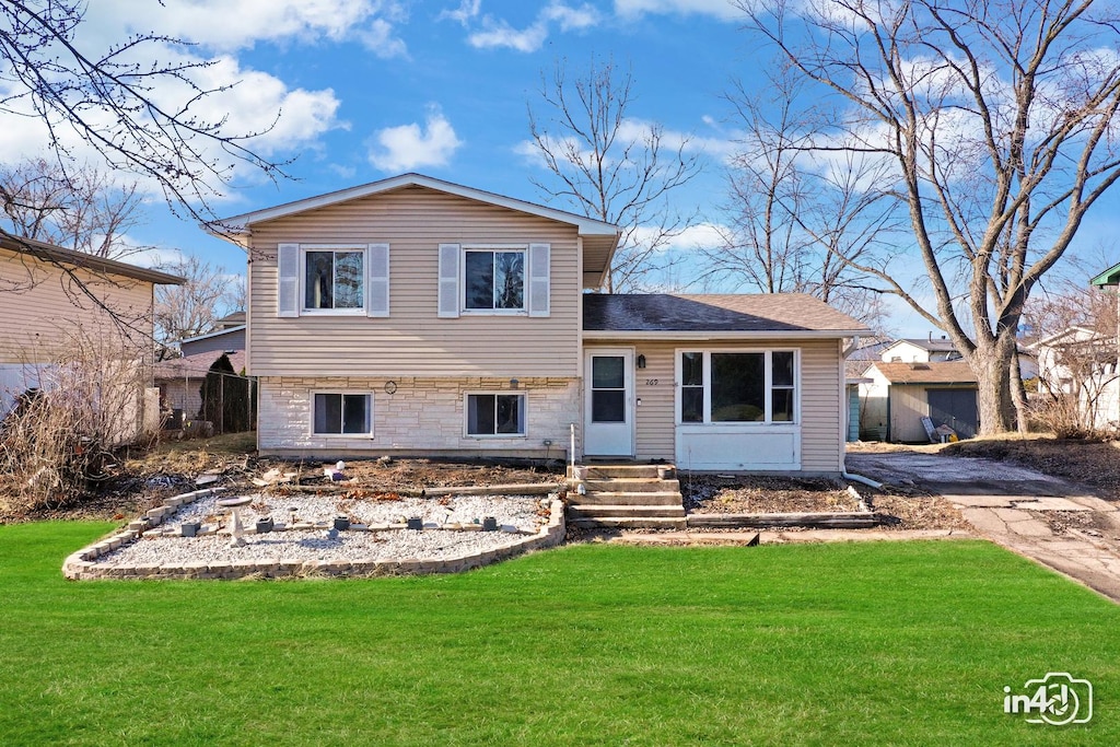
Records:
[[[164,499],[164,505],[129,522],[120,532],[78,550],[63,562],[63,576],[73,580],[91,579],[240,579],[299,578],[306,576],[373,577],[428,573],[458,573],[507,560],[531,550],[561,544],[567,531],[563,502],[554,498],[549,506],[549,521],[535,534],[522,536],[504,548],[459,555],[456,558],[402,558],[398,560],[268,560],[259,562],[189,562],[164,566],[103,566],[96,562],[144,532],[158,526],[166,517],[198,498],[215,495],[224,488],[206,488]],[[491,488],[493,492],[493,488]],[[390,527],[386,527],[390,529]],[[395,529],[395,527],[392,527]],[[405,530],[401,530],[405,531]],[[432,530],[427,530],[432,531]],[[437,530],[438,531],[438,530]]]

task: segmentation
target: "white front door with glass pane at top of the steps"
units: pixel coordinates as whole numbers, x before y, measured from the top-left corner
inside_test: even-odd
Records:
[[[587,354],[584,455],[634,456],[634,352],[600,348]]]

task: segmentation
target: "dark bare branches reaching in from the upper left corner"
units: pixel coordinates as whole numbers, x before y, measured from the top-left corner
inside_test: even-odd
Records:
[[[234,132],[225,118],[205,112],[213,95],[231,87],[205,83],[212,63],[180,54],[186,41],[155,32],[88,49],[78,41],[86,8],[85,0],[0,2],[0,113],[30,115],[47,128],[48,160],[58,178],[74,188],[92,164],[153,186],[177,215],[209,221],[209,199],[235,165],[286,176],[284,164],[253,149],[263,131]],[[165,93],[157,96],[157,90]],[[183,93],[169,97],[169,90]],[[84,149],[81,160],[67,144],[73,142]],[[8,185],[0,185],[0,199],[19,205]],[[4,227],[0,237],[22,241],[20,231]],[[22,241],[21,250],[58,267],[73,292],[101,304],[82,268],[64,265],[30,242]]]

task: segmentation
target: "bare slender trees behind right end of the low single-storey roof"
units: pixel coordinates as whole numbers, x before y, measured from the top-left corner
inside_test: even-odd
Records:
[[[727,96],[741,132],[729,167],[730,228],[722,245],[701,248],[706,277],[760,292],[811,293],[868,323],[883,305],[855,268],[898,228],[896,203],[874,185],[881,164],[862,155],[814,155],[828,112],[802,106],[801,83],[777,69],[762,94],[741,84]]]

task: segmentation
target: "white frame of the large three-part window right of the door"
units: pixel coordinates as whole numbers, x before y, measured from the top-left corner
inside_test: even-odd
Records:
[[[684,372],[682,356],[685,353],[700,353],[701,354],[701,365],[702,365],[702,376],[701,386],[703,389],[703,407],[702,417],[700,420],[682,420],[681,408],[683,405],[683,392],[684,392]],[[763,368],[764,368],[764,383],[763,383],[763,396],[765,398],[765,411],[763,420],[712,420],[711,419],[711,376],[712,376],[712,354],[763,354]],[[793,385],[774,385],[774,353],[792,353],[793,354]],[[771,427],[787,427],[787,426],[800,426],[802,422],[802,409],[801,409],[801,392],[802,392],[802,375],[801,375],[801,349],[795,347],[679,347],[673,352],[673,370],[674,370],[674,390],[675,396],[673,402],[673,421],[676,426],[683,427],[696,427],[696,428],[771,428]],[[693,387],[694,389],[694,387]],[[774,392],[775,390],[788,391],[793,390],[793,419],[792,420],[774,420]]]

